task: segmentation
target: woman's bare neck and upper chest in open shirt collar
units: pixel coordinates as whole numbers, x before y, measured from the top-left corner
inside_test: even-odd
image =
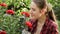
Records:
[[[42,30],[42,27],[45,23],[45,20],[46,20],[46,16],[43,15],[41,16],[39,19],[38,19],[38,24],[37,24],[37,31],[34,33],[34,34],[39,34]]]

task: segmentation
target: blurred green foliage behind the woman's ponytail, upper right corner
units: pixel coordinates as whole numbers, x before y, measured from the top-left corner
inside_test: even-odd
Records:
[[[53,5],[57,19],[60,20],[60,0],[48,0],[48,2]]]

